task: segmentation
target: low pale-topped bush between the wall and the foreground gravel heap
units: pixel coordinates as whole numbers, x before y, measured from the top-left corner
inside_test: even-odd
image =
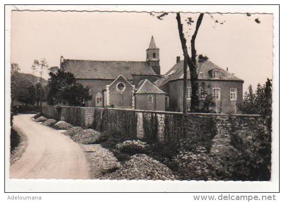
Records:
[[[127,154],[138,154],[138,153],[146,153],[149,145],[143,141],[123,141],[122,143],[118,143],[116,147]]]

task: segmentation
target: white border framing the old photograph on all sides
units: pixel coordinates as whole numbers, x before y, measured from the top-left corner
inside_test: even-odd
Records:
[[[15,1],[14,1],[15,2]],[[22,3],[22,1],[17,1]],[[49,1],[53,3],[55,1]],[[82,0],[80,3],[86,1]],[[109,1],[105,1],[107,3]],[[143,3],[148,3],[146,0]],[[219,1],[220,2],[220,1]],[[259,1],[258,3],[263,3]],[[8,3],[8,2],[7,2]],[[38,3],[37,1],[29,1],[29,3]],[[65,3],[64,1],[56,1],[56,3]],[[69,3],[77,3],[71,0]],[[130,2],[128,2],[130,3]],[[153,0],[151,0],[153,3]],[[166,2],[165,2],[166,3]],[[176,2],[177,3],[177,2]],[[206,3],[211,3],[207,1]],[[226,2],[222,2],[226,3]],[[248,0],[240,0],[237,3],[248,3]],[[272,3],[270,1],[270,3]],[[42,9],[42,5],[28,6],[21,5],[16,6],[17,9]],[[262,6],[228,6],[228,5],[149,5],[149,6],[125,6],[125,5],[56,5],[45,6],[48,9],[61,9],[61,10],[128,10],[128,11],[191,11],[191,12],[266,12],[273,13],[274,15],[274,71],[273,71],[273,165],[272,165],[272,182],[195,182],[195,181],[99,181],[99,180],[9,180],[8,170],[9,163],[5,163],[6,169],[6,181],[5,191],[24,191],[24,192],[275,192],[279,191],[279,10],[278,6],[262,5]],[[10,10],[15,9],[12,6],[5,6],[5,67],[9,67],[10,63]],[[9,68],[5,68],[5,93],[9,95]],[[3,93],[2,93],[3,95]],[[9,96],[5,96],[5,137],[3,139],[8,140],[9,135]],[[2,104],[4,106],[4,104]],[[283,112],[283,111],[282,111]],[[4,121],[3,121],[4,122]],[[283,138],[282,138],[283,140]],[[9,148],[9,144],[5,141],[6,148]],[[6,152],[6,160],[9,152]],[[283,155],[283,154],[282,154]],[[2,159],[2,162],[3,159]],[[281,180],[283,180],[283,175]],[[175,198],[175,197],[174,197]]]

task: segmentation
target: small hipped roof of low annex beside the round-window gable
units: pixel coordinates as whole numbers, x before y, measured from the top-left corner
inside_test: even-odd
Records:
[[[140,81],[136,86],[135,94],[166,94],[160,88],[155,86],[151,81],[145,79]]]

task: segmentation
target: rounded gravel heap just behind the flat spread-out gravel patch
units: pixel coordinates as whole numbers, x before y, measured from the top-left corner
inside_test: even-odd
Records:
[[[98,143],[101,139],[102,135],[93,129],[82,130],[72,137],[73,141],[82,144]]]

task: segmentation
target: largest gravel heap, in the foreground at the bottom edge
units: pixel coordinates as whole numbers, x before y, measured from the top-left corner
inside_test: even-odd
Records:
[[[102,180],[178,180],[178,177],[161,162],[145,154],[136,154]]]

